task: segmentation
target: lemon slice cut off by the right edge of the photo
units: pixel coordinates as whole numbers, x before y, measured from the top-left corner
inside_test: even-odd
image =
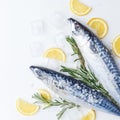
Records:
[[[120,35],[113,40],[113,51],[118,57],[120,57]]]

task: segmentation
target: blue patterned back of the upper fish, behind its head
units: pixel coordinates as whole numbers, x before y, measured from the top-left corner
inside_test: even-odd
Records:
[[[96,53],[99,54],[100,57],[103,59],[103,62],[105,63],[106,67],[108,68],[109,72],[113,74],[114,76],[114,81],[113,84],[116,87],[116,90],[118,91],[118,93],[120,94],[120,71],[117,67],[117,65],[115,64],[114,59],[112,58],[111,53],[109,52],[109,50],[103,46],[103,43],[98,40],[98,38],[96,36],[91,37],[90,40],[90,48],[91,50]]]

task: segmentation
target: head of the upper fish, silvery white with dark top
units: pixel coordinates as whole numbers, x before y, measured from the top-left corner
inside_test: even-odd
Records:
[[[91,36],[91,32],[88,28],[73,18],[69,18],[68,21],[72,28],[72,36],[76,42],[78,42],[81,46],[86,44]]]

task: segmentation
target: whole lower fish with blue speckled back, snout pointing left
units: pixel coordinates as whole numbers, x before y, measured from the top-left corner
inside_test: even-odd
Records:
[[[116,104],[86,83],[44,67],[31,66],[30,69],[61,98],[76,104],[85,102],[87,105],[120,116],[120,108]]]

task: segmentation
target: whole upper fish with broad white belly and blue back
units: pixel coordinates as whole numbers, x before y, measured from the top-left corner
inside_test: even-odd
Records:
[[[68,19],[72,36],[96,77],[120,104],[120,71],[109,50],[90,29],[73,18]]]

